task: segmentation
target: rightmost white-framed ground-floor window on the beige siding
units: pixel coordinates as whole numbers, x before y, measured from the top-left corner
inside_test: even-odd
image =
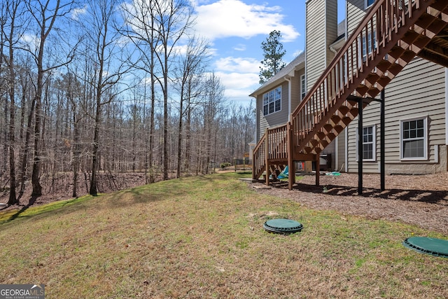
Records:
[[[426,118],[401,121],[402,160],[426,160],[428,148],[426,123]]]

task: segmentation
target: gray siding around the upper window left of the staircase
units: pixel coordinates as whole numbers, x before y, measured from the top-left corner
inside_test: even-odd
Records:
[[[267,128],[278,127],[279,125],[285,125],[288,123],[288,81],[281,82],[281,110],[263,116],[263,95],[257,97],[257,120],[259,120],[260,131],[258,132],[257,141],[260,140]],[[279,85],[275,85],[272,89],[277,88]],[[272,90],[271,89],[271,90]],[[268,90],[269,91],[269,90]]]

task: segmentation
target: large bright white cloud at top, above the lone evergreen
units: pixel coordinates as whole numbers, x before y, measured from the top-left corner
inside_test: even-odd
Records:
[[[300,35],[293,25],[282,23],[280,6],[245,4],[241,0],[218,0],[200,5],[198,1],[196,11],[197,32],[211,41],[230,36],[249,39],[269,34],[274,29],[281,32],[283,42],[294,41]]]

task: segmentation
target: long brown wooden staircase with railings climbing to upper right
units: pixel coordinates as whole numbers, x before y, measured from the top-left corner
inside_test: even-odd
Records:
[[[417,55],[448,67],[448,1],[375,1],[291,121],[266,130],[255,146],[253,179],[266,174],[269,184],[286,165],[294,173],[293,161],[316,161],[318,169],[323,148]]]

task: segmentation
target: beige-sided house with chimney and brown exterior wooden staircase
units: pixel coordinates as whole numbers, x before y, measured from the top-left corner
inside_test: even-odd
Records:
[[[253,178],[322,156],[325,170],[446,172],[447,1],[346,0],[339,24],[337,0],[305,5],[304,53],[251,94]]]

